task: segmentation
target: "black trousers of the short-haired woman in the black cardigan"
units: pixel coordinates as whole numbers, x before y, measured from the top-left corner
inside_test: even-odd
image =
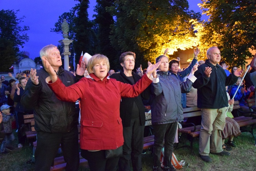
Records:
[[[119,171],[130,171],[130,160],[133,171],[142,170],[141,156],[143,151],[144,127],[141,126],[140,118],[131,119],[130,127],[123,127],[124,145],[123,156],[120,157],[118,165]]]

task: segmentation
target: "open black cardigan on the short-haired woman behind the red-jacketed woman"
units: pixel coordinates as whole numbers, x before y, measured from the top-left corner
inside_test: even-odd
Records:
[[[132,72],[132,77],[134,82],[138,82],[141,77]],[[116,79],[122,83],[127,83],[132,85],[132,83],[127,79],[127,76],[123,71],[120,71],[120,74],[114,73],[110,76],[110,78]],[[124,98],[122,97],[122,101],[120,102],[120,118],[122,119],[123,127],[130,127],[131,126],[131,115],[132,115],[132,105],[135,102],[139,108],[139,117],[141,121],[141,125],[145,125],[145,106],[142,103],[141,96],[144,99],[150,98],[150,86],[146,88],[139,96],[133,98]]]

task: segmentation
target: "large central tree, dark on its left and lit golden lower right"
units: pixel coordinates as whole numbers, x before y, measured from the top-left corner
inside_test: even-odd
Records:
[[[119,0],[108,10],[117,18],[111,42],[122,52],[154,62],[167,47],[173,54],[198,43],[190,20],[200,19],[200,14],[189,11],[187,1]]]

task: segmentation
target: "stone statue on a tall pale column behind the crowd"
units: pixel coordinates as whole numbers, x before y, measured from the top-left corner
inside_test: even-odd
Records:
[[[71,53],[69,52],[69,44],[72,43],[73,40],[68,39],[69,25],[66,19],[64,19],[63,23],[61,24],[61,30],[63,32],[64,39],[60,40],[59,43],[61,43],[64,47],[64,69],[69,71],[69,55],[71,55]]]

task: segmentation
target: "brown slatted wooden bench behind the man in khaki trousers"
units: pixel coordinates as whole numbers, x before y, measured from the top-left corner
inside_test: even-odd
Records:
[[[234,104],[233,109],[239,109],[239,108],[240,108],[239,102],[236,102],[236,104]],[[193,108],[190,108],[190,109],[185,108],[184,112],[186,111],[186,113],[183,114],[184,118],[185,117],[200,116],[201,111],[198,111],[198,109],[199,108],[197,108],[197,107],[193,107]],[[241,132],[250,132],[253,135],[254,140],[255,140],[255,144],[256,144],[256,137],[254,136],[254,133],[253,133],[253,127],[254,127],[254,124],[256,124],[256,118],[239,116],[239,117],[235,117],[233,119],[236,120],[236,122],[238,123],[238,125],[240,127],[248,126],[248,125],[252,126],[251,130],[241,130]],[[177,143],[176,148],[189,147],[191,149],[191,153],[193,155],[195,155],[194,149],[193,149],[193,142],[194,142],[194,138],[199,137],[199,135],[200,135],[201,125],[196,126],[193,123],[189,123],[189,124],[193,125],[193,126],[186,127],[186,128],[180,128],[180,129],[178,129],[178,132],[189,136],[188,138],[190,140],[190,146],[189,145],[184,145],[184,146],[178,147],[179,143]],[[179,141],[181,140],[181,136],[179,136]]]

